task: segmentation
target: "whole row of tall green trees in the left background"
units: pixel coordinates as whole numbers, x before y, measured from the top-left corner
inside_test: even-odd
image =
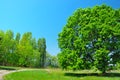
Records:
[[[52,65],[46,62],[52,58],[46,51],[45,38],[36,40],[31,32],[26,32],[22,36],[17,33],[14,36],[11,30],[0,30],[0,65],[46,67]]]

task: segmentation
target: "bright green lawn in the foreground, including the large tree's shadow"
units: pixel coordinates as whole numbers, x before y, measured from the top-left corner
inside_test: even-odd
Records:
[[[86,72],[65,72],[59,69],[27,70],[8,74],[4,80],[120,80],[120,73],[100,75]]]

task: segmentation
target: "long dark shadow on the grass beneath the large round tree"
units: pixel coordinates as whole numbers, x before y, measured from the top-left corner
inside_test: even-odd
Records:
[[[120,73],[65,73],[65,76],[74,76],[74,77],[86,77],[86,76],[98,76],[98,77],[120,77]]]

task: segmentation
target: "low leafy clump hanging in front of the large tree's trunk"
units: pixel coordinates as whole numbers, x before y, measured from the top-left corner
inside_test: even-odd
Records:
[[[110,61],[108,53],[108,50],[101,48],[100,50],[96,50],[94,55],[94,65],[96,66],[96,68],[102,71],[102,73],[105,73],[108,68],[108,61]]]

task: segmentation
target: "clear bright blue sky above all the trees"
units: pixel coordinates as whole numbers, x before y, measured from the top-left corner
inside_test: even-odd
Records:
[[[59,52],[58,33],[77,8],[107,4],[120,8],[120,0],[0,0],[0,29],[14,33],[32,32],[46,38],[47,51]]]

